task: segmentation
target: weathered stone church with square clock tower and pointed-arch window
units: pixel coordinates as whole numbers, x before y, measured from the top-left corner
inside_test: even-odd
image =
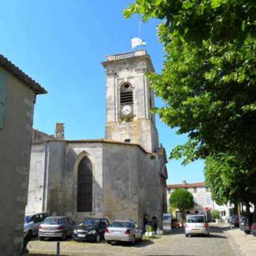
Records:
[[[167,212],[167,158],[155,127],[154,92],[145,72],[154,71],[145,50],[114,54],[106,72],[104,139],[66,140],[34,130],[26,212],[134,219],[161,224]]]

